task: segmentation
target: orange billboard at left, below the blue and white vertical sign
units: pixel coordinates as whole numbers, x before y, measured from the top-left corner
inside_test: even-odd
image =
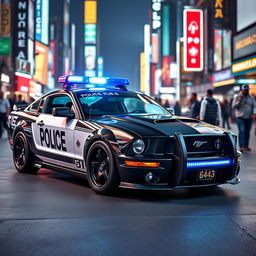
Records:
[[[48,78],[48,47],[35,41],[35,75],[34,79],[43,84],[47,84]]]

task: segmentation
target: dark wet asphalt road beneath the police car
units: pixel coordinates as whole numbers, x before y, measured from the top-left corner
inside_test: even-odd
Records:
[[[237,186],[95,194],[86,181],[14,169],[0,140],[0,255],[256,255],[256,139]]]

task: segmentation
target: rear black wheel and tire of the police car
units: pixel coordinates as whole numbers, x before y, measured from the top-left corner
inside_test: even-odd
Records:
[[[23,132],[18,132],[13,140],[13,162],[18,172],[36,173],[35,158],[29,149],[28,141]]]

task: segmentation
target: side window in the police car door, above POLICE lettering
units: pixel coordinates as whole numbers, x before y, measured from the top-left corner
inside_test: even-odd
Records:
[[[47,98],[45,102],[43,113],[52,114],[53,108],[68,107],[70,111],[73,111],[73,102],[67,95],[57,95]]]

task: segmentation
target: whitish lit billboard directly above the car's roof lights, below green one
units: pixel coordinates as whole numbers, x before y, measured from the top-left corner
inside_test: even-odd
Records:
[[[84,47],[85,75],[96,75],[96,46],[86,45]]]

